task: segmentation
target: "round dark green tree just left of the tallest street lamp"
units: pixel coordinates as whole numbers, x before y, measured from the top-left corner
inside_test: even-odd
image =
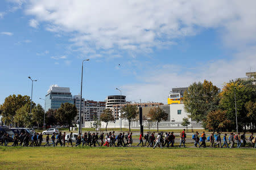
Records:
[[[75,104],[61,103],[60,108],[56,112],[56,120],[60,125],[72,125],[72,120],[77,115],[77,109]]]

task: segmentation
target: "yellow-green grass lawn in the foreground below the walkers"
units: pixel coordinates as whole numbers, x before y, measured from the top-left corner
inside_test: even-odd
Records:
[[[255,169],[256,150],[0,147],[0,169]]]

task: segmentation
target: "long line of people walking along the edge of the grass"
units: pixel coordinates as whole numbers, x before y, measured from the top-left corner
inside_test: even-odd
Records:
[[[60,133],[53,133],[51,136],[47,134],[46,136],[46,144],[43,146],[106,146],[106,147],[131,147],[133,144],[133,133],[128,132],[127,134],[119,133],[115,135],[115,131],[109,132],[109,133],[84,133],[83,135],[79,133],[76,137],[76,142],[73,145],[73,133],[67,135],[64,132],[63,134]],[[174,147],[175,143],[175,135],[174,132],[169,133],[158,133],[155,134],[147,132],[146,135],[143,136],[143,133],[139,135],[139,143],[137,146],[144,147]],[[180,133],[180,144],[179,147],[185,146],[187,139],[187,134],[185,133],[185,129],[181,131]],[[200,135],[197,131],[195,134],[192,135],[192,139],[195,141],[193,147],[207,147],[206,141],[210,142],[209,147],[226,147],[226,148],[233,148],[235,144],[237,144],[237,148],[241,147],[241,144],[243,143],[243,146],[246,146],[246,143],[248,142],[248,147],[254,147],[256,148],[255,144],[255,137],[253,136],[253,133],[251,133],[249,138],[246,138],[245,133],[240,135],[240,133],[230,133],[224,134],[223,141],[221,139],[221,133],[217,131],[215,135],[213,133],[206,137],[204,131]],[[10,141],[9,134],[0,134],[0,146],[5,145],[7,146]],[[31,141],[31,142],[30,142]],[[28,134],[28,133],[20,133],[15,134],[13,137],[13,145],[12,146],[42,146],[43,141],[43,134],[42,133],[34,133],[34,135]],[[247,141],[247,142],[246,142]],[[201,142],[201,144],[200,144]],[[223,142],[223,143],[222,143]]]

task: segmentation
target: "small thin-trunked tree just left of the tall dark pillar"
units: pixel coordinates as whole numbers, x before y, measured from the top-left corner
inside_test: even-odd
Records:
[[[129,131],[131,131],[131,120],[133,120],[139,113],[138,107],[136,105],[126,104],[121,110],[121,118],[128,120]]]

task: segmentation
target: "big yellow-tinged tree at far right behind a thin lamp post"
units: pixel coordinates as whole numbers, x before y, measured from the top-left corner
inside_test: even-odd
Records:
[[[237,120],[238,120],[238,130],[246,130],[246,125],[251,122],[255,123],[255,120],[251,120],[247,117],[246,103],[256,100],[256,87],[251,81],[243,81],[237,79],[235,81],[231,80],[226,83],[222,88],[220,93],[220,107],[222,110],[226,111],[226,116],[228,120],[232,122],[232,129],[236,129],[236,109],[234,94],[236,92],[236,105],[237,105]]]

